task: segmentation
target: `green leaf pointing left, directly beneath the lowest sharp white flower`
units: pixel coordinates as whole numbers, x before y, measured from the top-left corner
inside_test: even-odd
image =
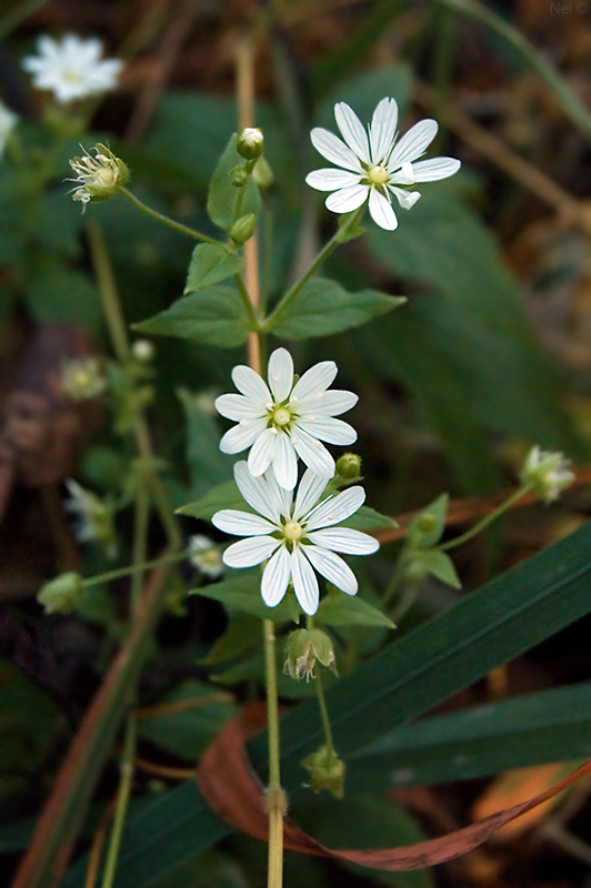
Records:
[[[232,571],[229,579],[191,589],[189,595],[203,595],[206,598],[220,602],[226,607],[252,614],[260,619],[271,619],[273,623],[288,623],[289,620],[298,623],[300,617],[300,607],[291,592],[286,594],[277,607],[267,607],[261,598],[261,572],[258,568]]]

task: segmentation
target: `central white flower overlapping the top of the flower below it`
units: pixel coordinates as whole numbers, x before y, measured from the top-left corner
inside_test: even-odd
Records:
[[[358,401],[351,392],[327,392],[335,375],[337,364],[322,361],[293,384],[293,361],[286,349],[276,349],[269,359],[269,385],[250,367],[234,367],[232,380],[242,394],[220,395],[216,407],[239,424],[224,434],[220,450],[240,453],[251,447],[251,475],[258,477],[272,466],[278,484],[288,491],[298,480],[298,456],[317,475],[331,478],[334,460],[320,442],[357,441],[354,428],[334,418]]]

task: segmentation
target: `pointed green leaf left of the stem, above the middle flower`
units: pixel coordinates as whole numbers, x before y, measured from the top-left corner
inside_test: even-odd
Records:
[[[173,302],[147,321],[132,324],[140,333],[180,336],[183,340],[233,349],[248,339],[249,319],[238,291],[230,286],[208,286]]]

